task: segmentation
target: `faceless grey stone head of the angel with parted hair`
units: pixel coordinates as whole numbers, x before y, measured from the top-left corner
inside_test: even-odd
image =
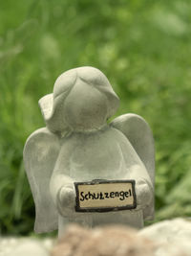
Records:
[[[47,127],[65,129],[101,128],[117,111],[119,100],[105,75],[94,67],[79,67],[60,75],[53,94],[39,101]]]

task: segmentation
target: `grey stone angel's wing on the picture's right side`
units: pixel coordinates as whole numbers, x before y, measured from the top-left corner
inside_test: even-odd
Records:
[[[117,117],[111,126],[119,129],[130,141],[140,160],[143,162],[155,188],[155,146],[153,133],[146,121],[136,114],[124,114]],[[154,201],[148,212],[144,212],[147,220],[153,219]]]

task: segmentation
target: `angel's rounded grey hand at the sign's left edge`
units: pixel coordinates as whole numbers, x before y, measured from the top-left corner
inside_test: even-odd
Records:
[[[74,215],[75,192],[73,186],[63,186],[57,195],[57,207],[64,217]]]

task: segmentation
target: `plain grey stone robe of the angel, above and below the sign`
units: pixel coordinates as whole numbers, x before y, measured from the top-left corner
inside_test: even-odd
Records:
[[[153,197],[150,176],[138,153],[120,130],[107,125],[92,132],[73,132],[62,139],[51,179],[54,203],[62,186],[94,179],[141,179],[148,185]],[[65,217],[59,215],[59,233],[63,232],[68,222],[88,226],[123,223],[140,228],[143,225],[143,210],[74,213]]]

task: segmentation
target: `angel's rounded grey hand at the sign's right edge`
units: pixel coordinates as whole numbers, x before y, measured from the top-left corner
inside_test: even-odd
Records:
[[[145,180],[139,179],[136,184],[137,209],[144,209],[153,198],[153,192]]]

